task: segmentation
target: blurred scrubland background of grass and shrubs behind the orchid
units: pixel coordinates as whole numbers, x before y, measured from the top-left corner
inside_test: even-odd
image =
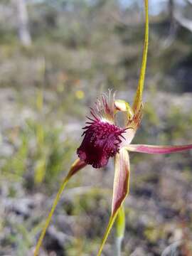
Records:
[[[144,119],[134,142],[190,143],[192,1],[149,2]],[[132,103],[143,9],[142,0],[0,1],[0,255],[32,255],[95,98],[112,88]],[[131,154],[131,162],[122,256],[192,255],[191,152]],[[111,161],[73,178],[42,256],[96,255],[113,175]],[[114,230],[103,255],[114,255],[113,242]]]

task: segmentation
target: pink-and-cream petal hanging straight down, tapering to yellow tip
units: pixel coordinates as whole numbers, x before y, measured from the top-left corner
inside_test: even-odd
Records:
[[[97,256],[102,253],[102,248],[105,245],[107,237],[112,229],[117,213],[124,201],[124,198],[129,193],[129,154],[126,149],[122,148],[119,154],[115,156],[114,163],[114,185],[113,185],[113,196],[112,196],[112,214],[105,231],[105,235],[102,239],[102,244]]]

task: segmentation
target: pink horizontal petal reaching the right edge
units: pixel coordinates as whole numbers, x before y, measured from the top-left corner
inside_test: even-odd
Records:
[[[181,146],[153,146],[153,145],[142,145],[142,144],[130,144],[124,147],[128,151],[146,153],[146,154],[169,154],[178,151],[184,151],[192,149],[192,144],[181,145]]]

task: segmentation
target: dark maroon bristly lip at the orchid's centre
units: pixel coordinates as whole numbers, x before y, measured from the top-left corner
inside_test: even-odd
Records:
[[[87,124],[90,125],[83,128],[85,132],[82,136],[85,137],[77,154],[82,161],[94,168],[106,166],[110,156],[115,156],[119,151],[125,129],[98,119]]]

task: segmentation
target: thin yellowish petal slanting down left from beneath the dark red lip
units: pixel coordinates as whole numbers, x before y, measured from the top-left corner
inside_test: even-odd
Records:
[[[48,217],[46,218],[46,223],[43,227],[43,230],[41,231],[41,235],[40,237],[38,238],[38,242],[37,242],[37,245],[36,245],[36,249],[35,249],[35,252],[34,252],[34,256],[38,256],[38,252],[39,252],[39,249],[41,247],[41,244],[43,242],[43,238],[44,236],[46,235],[46,230],[48,229],[48,226],[50,224],[50,220],[53,216],[53,213],[55,211],[55,208],[56,206],[58,205],[58,201],[60,200],[60,196],[61,194],[63,193],[63,190],[66,186],[66,184],[68,183],[68,181],[70,180],[70,178],[76,174],[78,171],[80,171],[80,169],[84,168],[87,164],[85,164],[84,161],[81,161],[80,159],[77,159],[73,165],[70,167],[70,171],[68,172],[68,175],[64,178],[63,180],[63,183],[61,184],[60,188],[59,188],[59,191],[55,197],[55,200],[53,201],[53,206],[52,208],[50,209],[50,212],[48,214]]]

